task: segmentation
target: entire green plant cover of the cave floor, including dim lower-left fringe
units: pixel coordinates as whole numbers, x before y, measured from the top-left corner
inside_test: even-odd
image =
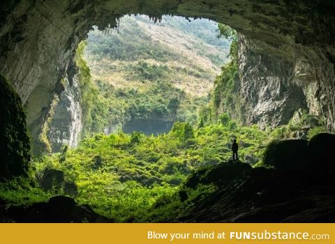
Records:
[[[156,137],[139,132],[96,134],[82,140],[78,148],[36,160],[31,178],[41,178],[45,168],[61,169],[66,181],[77,184],[79,194],[75,200],[78,203],[89,204],[117,222],[173,221],[192,199],[205,197],[215,190],[211,185],[182,189],[182,183],[193,171],[228,161],[233,138],[239,143],[241,160],[248,162],[252,158],[255,161],[250,163],[254,167],[262,165],[270,142],[306,128],[310,128],[306,129],[306,135],[311,136],[311,125],[315,123],[321,128],[322,121],[315,116],[311,118],[306,112],[300,115],[274,130],[260,130],[256,125],[241,126],[228,114],[221,114],[216,124],[194,128],[189,123],[178,122],[168,134]],[[30,204],[64,194],[42,192],[37,183],[31,182],[1,185],[0,197],[15,204]],[[179,190],[187,192],[187,201],[180,201]]]

